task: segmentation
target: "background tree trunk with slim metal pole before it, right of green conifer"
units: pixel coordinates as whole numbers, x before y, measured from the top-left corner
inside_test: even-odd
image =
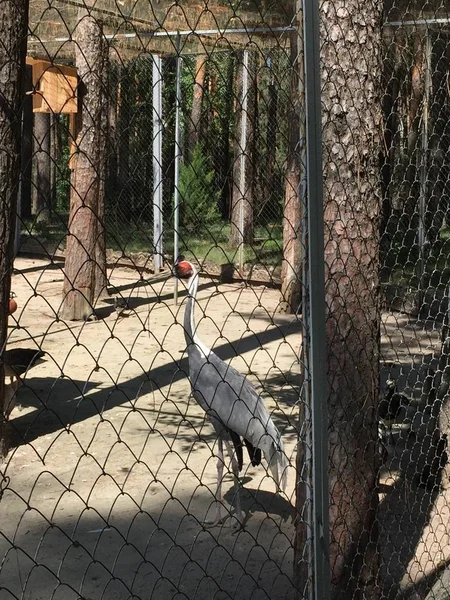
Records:
[[[247,110],[243,102],[244,63],[242,54],[237,67],[237,107],[236,128],[234,139],[233,165],[233,196],[231,206],[231,235],[230,244],[251,244],[253,242],[253,202],[254,202],[254,171],[256,163],[256,123],[257,123],[257,69],[256,52],[249,52],[248,88],[246,94]],[[245,141],[241,140],[242,127],[246,121]],[[241,157],[244,156],[245,174],[241,176]]]

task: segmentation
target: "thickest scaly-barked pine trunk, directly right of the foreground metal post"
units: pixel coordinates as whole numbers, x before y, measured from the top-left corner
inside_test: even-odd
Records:
[[[331,577],[335,598],[372,600],[380,596],[382,3],[337,0],[326,7],[321,51]]]

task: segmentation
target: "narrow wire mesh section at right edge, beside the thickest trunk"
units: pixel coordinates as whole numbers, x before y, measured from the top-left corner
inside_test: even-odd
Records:
[[[413,10],[397,3],[386,7],[386,21],[380,378],[390,413],[381,422],[385,594],[444,598],[449,14],[444,6]]]

